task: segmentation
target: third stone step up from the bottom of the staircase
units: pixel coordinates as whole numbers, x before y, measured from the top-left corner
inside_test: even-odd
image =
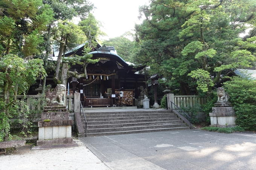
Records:
[[[91,122],[90,122],[91,123]],[[149,126],[149,125],[166,125],[166,124],[182,124],[183,120],[176,121],[160,121],[160,122],[139,122],[139,123],[121,123],[121,124],[105,124],[105,125],[90,125],[87,123],[88,129],[102,129],[102,128],[121,128],[128,126]]]

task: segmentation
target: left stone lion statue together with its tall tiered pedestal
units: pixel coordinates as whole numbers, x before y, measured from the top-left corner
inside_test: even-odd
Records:
[[[47,106],[41,114],[41,121],[38,121],[38,141],[37,146],[74,147],[72,124],[69,120],[69,112],[64,105],[62,97],[65,96],[66,88],[63,84],[58,84],[53,92],[50,89],[46,93]],[[34,149],[37,149],[37,148]]]

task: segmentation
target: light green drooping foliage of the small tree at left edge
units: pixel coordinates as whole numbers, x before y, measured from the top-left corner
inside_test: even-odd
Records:
[[[3,101],[0,104],[0,140],[8,140],[10,118],[21,117],[27,118],[28,111],[24,102],[16,101],[17,93],[26,93],[29,84],[35,82],[37,77],[44,77],[46,72],[43,68],[43,61],[40,59],[24,60],[17,55],[8,54],[0,57],[0,84],[3,89]],[[14,95],[14,96],[11,96]],[[18,123],[20,120],[18,120]],[[26,124],[26,123],[25,123]],[[24,128],[28,128],[24,124]]]

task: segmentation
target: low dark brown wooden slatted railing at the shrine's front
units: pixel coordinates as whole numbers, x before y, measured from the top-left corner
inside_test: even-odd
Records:
[[[84,102],[88,107],[111,106],[111,98],[85,98]]]

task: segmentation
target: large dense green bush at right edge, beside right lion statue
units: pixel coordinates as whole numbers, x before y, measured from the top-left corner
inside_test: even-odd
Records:
[[[256,81],[248,76],[232,77],[225,82],[225,91],[230,96],[236,113],[236,125],[246,130],[256,130]]]

